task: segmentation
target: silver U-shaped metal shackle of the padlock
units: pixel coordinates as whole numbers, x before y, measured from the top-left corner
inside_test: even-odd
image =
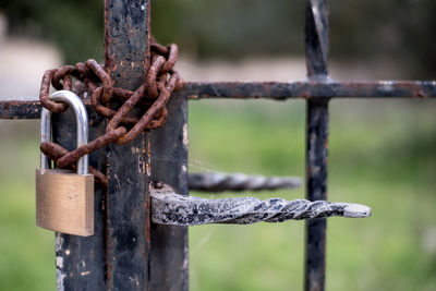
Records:
[[[88,142],[88,113],[81,98],[70,90],[58,90],[50,96],[50,100],[65,102],[73,109],[76,120],[77,147]],[[40,126],[40,142],[50,142],[51,138],[51,111],[43,108]],[[88,174],[88,155],[83,156],[77,161],[77,173]],[[49,169],[49,161],[46,155],[40,154],[40,168]]]

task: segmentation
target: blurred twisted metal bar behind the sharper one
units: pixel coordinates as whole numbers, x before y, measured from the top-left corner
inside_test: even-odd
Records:
[[[190,173],[187,179],[190,191],[205,192],[295,189],[301,184],[301,179],[296,177],[264,177],[244,173]]]

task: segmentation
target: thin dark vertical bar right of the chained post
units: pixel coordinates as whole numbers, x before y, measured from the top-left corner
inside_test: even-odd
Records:
[[[307,77],[328,78],[327,0],[308,0],[306,5],[305,50]],[[306,197],[327,199],[328,99],[307,100],[306,107]],[[306,222],[305,290],[325,289],[326,219]]]

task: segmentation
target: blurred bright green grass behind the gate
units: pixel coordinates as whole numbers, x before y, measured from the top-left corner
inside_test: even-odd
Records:
[[[330,104],[329,199],[373,216],[328,220],[327,290],[436,289],[436,250],[424,239],[436,228],[435,109]],[[38,124],[2,121],[1,132],[0,290],[53,290],[53,234],[34,221]],[[304,177],[304,102],[192,101],[190,171]],[[293,199],[304,189],[244,194]],[[194,291],[302,290],[303,258],[303,221],[190,228]]]

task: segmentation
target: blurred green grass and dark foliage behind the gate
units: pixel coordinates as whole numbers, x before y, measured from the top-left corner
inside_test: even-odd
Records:
[[[304,1],[152,2],[157,39],[195,61],[303,57]],[[401,69],[395,77],[436,78],[435,1],[330,2],[332,61],[383,71],[388,60]],[[11,35],[57,45],[65,63],[101,59],[102,1],[1,0],[0,11]],[[303,101],[189,110],[190,171],[304,177]],[[436,290],[435,112],[435,100],[331,101],[329,199],[373,216],[328,220],[327,290]],[[56,286],[53,234],[34,220],[38,126],[0,121],[0,290]],[[255,195],[293,199],[304,189]],[[303,231],[302,221],[190,228],[191,290],[302,290]]]

